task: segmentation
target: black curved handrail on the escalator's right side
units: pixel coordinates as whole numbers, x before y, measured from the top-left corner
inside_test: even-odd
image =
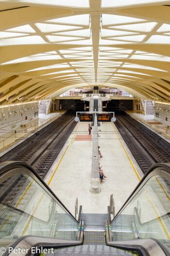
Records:
[[[165,168],[164,170],[162,169],[157,170],[157,168],[162,167]],[[164,171],[164,172],[162,172]],[[156,172],[156,173],[155,173]],[[163,173],[168,172],[170,174],[170,164],[168,163],[156,163],[153,166],[151,166],[151,168],[147,171],[147,173],[144,175],[144,177],[140,180],[140,182],[137,184],[136,188],[134,189],[134,191],[131,193],[131,195],[127,198],[127,200],[125,201],[125,203],[122,205],[122,207],[120,208],[119,212],[116,214],[116,216],[112,219],[110,225],[113,223],[113,221],[119,216],[119,214],[124,210],[124,208],[130,203],[130,201],[136,196],[140,186],[143,185],[153,176],[155,175],[161,175],[163,176]],[[153,173],[153,174],[152,174]]]

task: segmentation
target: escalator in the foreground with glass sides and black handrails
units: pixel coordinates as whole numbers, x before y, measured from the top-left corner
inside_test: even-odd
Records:
[[[170,255],[170,166],[150,168],[112,221],[109,207],[77,221],[31,166],[1,163],[0,255]]]

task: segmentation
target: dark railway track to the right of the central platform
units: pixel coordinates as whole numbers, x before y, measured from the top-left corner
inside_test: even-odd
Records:
[[[170,144],[128,114],[117,115],[115,122],[142,172],[157,162],[170,162]]]

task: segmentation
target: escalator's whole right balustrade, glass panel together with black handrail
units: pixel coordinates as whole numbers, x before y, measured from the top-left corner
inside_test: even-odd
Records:
[[[106,244],[119,248],[136,245],[138,248],[149,238],[160,244],[165,255],[170,255],[169,195],[170,164],[157,163],[141,179],[113,220],[109,219],[106,225],[111,236]],[[164,255],[158,253],[159,248],[154,250],[155,245],[148,246],[153,250],[149,255]]]

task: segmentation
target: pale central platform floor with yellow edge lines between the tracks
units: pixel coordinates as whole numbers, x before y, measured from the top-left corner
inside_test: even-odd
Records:
[[[88,134],[87,122],[77,124],[45,180],[73,215],[76,197],[78,205],[83,206],[83,213],[106,214],[111,194],[118,212],[143,177],[114,123],[102,123],[100,129],[98,139],[102,158],[99,157],[99,161],[107,176],[101,182],[101,193],[89,191],[93,131]]]

